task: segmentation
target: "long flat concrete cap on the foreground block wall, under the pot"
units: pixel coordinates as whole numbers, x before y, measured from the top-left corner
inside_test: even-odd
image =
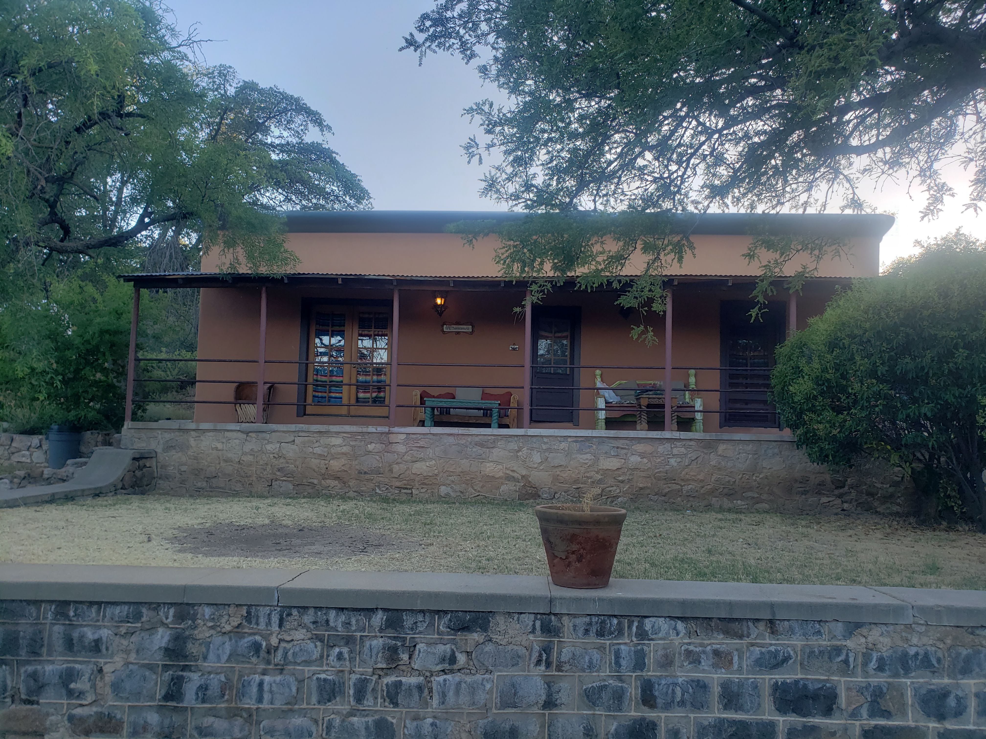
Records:
[[[986,591],[614,579],[572,590],[546,577],[446,572],[0,565],[0,600],[846,621],[986,626]]]

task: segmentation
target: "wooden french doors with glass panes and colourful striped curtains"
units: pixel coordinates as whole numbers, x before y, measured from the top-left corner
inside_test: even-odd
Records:
[[[390,313],[377,307],[317,305],[309,335],[308,412],[387,416]]]

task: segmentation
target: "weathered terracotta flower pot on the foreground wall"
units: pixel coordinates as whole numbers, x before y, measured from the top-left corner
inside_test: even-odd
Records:
[[[605,587],[613,571],[626,511],[609,505],[538,505],[551,581],[562,587]]]

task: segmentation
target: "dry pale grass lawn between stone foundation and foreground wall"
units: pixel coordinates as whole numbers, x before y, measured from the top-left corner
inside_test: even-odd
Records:
[[[181,539],[256,526],[316,539],[355,530],[357,549],[374,537],[396,544],[342,557],[290,547],[258,557],[234,545],[217,557]],[[322,526],[331,528],[312,530]],[[546,573],[529,504],[329,498],[120,496],[0,509],[0,562]],[[986,536],[876,516],[631,509],[613,575],[986,589]]]

